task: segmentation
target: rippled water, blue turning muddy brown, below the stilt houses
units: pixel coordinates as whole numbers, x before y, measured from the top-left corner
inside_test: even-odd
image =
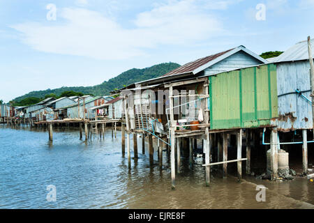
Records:
[[[47,137],[43,130],[0,125],[0,208],[314,208],[314,183],[304,178],[238,182],[214,173],[205,187],[202,157],[192,169],[182,157],[171,190],[167,153],[162,170],[157,161],[150,168],[139,141],[139,159],[129,171],[120,132],[112,139],[108,130],[105,140],[94,137],[87,144],[77,130],[56,130],[52,145]],[[57,201],[46,200],[47,185],[56,186]],[[256,201],[257,185],[268,188],[265,202]]]

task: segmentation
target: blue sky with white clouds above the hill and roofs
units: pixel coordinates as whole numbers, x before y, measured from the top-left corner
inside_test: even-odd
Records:
[[[56,20],[47,19],[50,3]],[[265,20],[256,19],[259,3]],[[314,37],[313,13],[314,0],[0,0],[0,99],[239,45],[285,51]]]

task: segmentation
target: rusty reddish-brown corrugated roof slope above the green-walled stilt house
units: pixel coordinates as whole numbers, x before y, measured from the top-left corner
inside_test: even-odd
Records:
[[[232,49],[235,49],[235,48],[232,48]],[[206,57],[203,57],[201,59],[197,59],[196,61],[186,63],[184,66],[181,66],[175,70],[167,72],[165,75],[163,75],[163,77],[170,76],[170,75],[184,74],[187,72],[193,72],[197,68],[200,68],[200,66],[203,66],[204,64],[209,63],[209,61],[213,61],[214,59],[217,59],[219,56],[223,56],[223,54],[230,52],[232,49],[228,49],[224,52],[220,52],[218,54],[213,54],[211,56],[206,56]]]

